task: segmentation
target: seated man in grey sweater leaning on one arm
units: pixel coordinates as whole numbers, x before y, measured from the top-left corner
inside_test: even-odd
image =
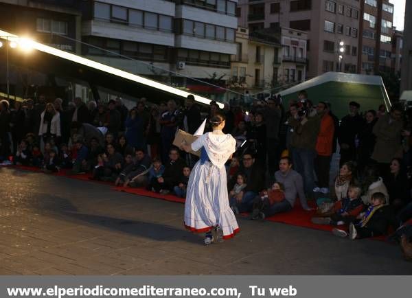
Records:
[[[282,157],[279,161],[279,171],[275,172],[276,182],[282,183],[285,187],[285,198],[280,203],[271,208],[272,214],[289,211],[295,205],[295,200],[299,196],[301,207],[307,211],[312,210],[308,206],[304,192],[304,182],[302,176],[292,170],[292,160],[290,157]]]

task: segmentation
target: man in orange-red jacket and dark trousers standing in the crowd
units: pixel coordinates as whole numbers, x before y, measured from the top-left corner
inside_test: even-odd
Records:
[[[321,126],[317,137],[317,158],[315,161],[318,186],[314,188],[314,192],[322,192],[323,194],[329,192],[329,169],[335,129],[334,121],[328,112],[328,105],[325,102],[319,102],[317,114],[321,117]]]

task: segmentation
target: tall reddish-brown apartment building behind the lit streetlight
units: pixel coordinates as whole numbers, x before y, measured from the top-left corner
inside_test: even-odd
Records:
[[[269,27],[306,32],[308,78],[325,71],[357,71],[358,0],[239,0],[237,12],[239,25],[251,32]]]

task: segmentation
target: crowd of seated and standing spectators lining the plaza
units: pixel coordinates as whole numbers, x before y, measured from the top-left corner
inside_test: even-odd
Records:
[[[197,157],[172,146],[174,135],[178,128],[194,133],[219,109],[216,102],[198,106],[192,95],[182,105],[141,98],[131,109],[121,98],[107,103],[75,98],[66,106],[43,95],[36,101],[2,100],[0,161],[44,172],[91,172],[92,179],[185,197]],[[387,225],[358,236],[386,233],[387,226],[407,222],[412,215],[411,109],[393,104],[388,112],[385,106],[360,111],[361,104],[350,102],[339,120],[329,102],[314,104],[305,91],[288,106],[279,97],[225,104],[224,131],[238,144],[227,163],[233,211],[264,218],[297,204],[310,210],[308,200],[315,200],[319,212],[313,221],[334,225],[343,236],[341,225],[351,231],[367,227],[356,222],[365,213],[370,221],[378,213],[369,207],[379,202]],[[335,152],[341,169],[330,177]]]

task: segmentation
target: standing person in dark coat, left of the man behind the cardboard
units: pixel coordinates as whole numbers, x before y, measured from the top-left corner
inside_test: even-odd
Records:
[[[163,163],[168,161],[168,152],[172,146],[174,135],[177,129],[177,113],[176,102],[174,100],[168,101],[168,111],[165,111],[161,115],[160,124],[161,128],[161,152]],[[180,173],[180,172],[179,172]]]

